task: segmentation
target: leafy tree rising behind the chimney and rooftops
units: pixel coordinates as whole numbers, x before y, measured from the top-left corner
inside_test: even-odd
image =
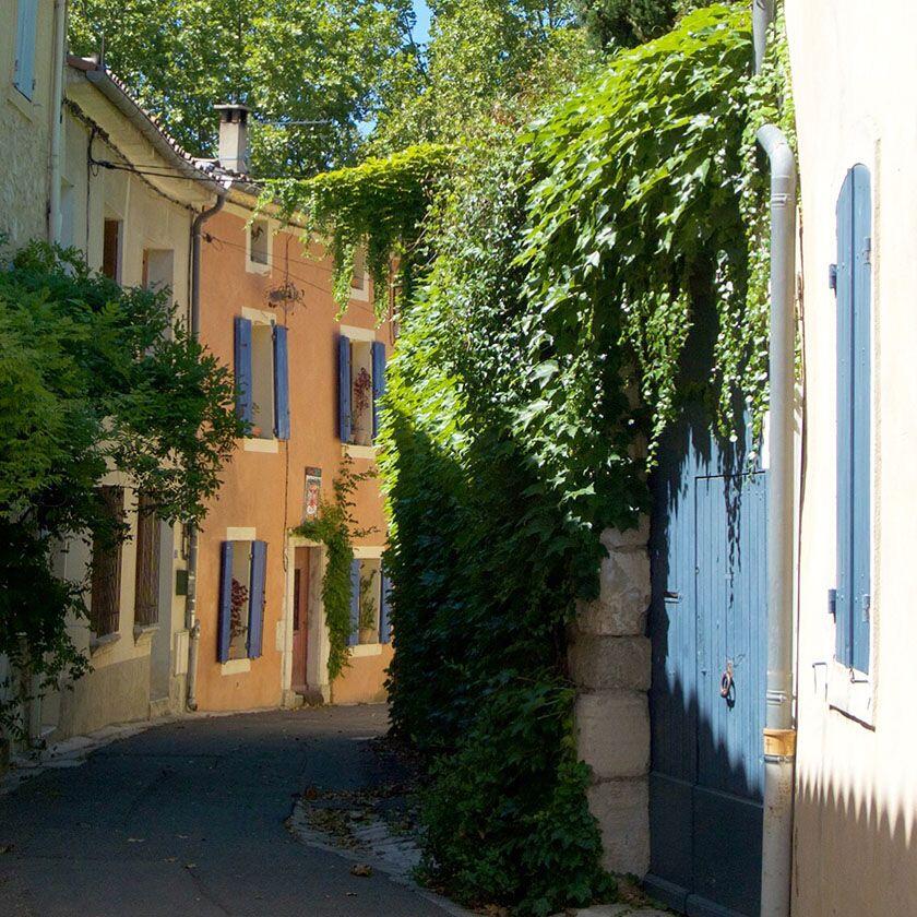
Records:
[[[70,40],[105,47],[189,152],[215,155],[213,106],[254,110],[255,177],[309,176],[354,160],[385,73],[414,56],[410,0],[71,0]]]

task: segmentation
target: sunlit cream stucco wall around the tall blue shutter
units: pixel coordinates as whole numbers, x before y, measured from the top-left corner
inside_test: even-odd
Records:
[[[806,463],[799,576],[797,917],[917,913],[917,12],[907,0],[787,0],[805,289]],[[870,683],[833,660],[835,204],[872,174]]]

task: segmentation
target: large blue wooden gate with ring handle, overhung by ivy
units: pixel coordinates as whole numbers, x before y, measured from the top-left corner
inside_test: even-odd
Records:
[[[766,474],[700,410],[654,475],[652,862],[691,917],[758,915],[766,667]]]

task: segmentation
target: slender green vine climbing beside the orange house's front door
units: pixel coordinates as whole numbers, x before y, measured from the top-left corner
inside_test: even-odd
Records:
[[[329,632],[327,676],[333,682],[349,660],[349,638],[353,632],[350,604],[354,562],[354,539],[364,538],[372,529],[357,527],[354,514],[354,492],[364,481],[376,475],[374,469],[357,474],[345,456],[332,486],[333,499],[322,500],[314,520],[307,520],[293,534],[325,546],[325,568],[322,577],[322,606]]]

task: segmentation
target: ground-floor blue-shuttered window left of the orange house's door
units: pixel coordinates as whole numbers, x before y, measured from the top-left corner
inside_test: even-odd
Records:
[[[257,659],[264,629],[265,541],[224,541],[219,572],[217,658]]]

